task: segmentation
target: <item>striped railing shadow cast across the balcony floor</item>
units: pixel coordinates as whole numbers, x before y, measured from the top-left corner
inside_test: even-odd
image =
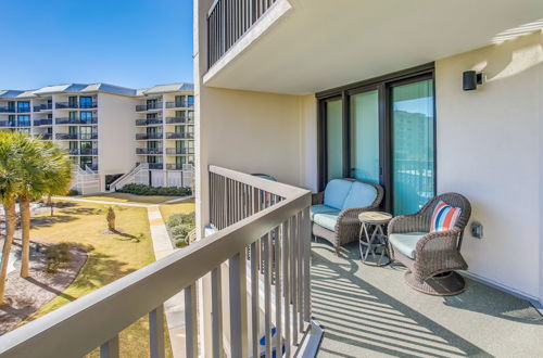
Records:
[[[315,318],[325,329],[321,355],[490,356],[357,277],[354,257],[332,261],[320,252],[332,255],[333,251],[326,246],[313,250],[312,303]]]

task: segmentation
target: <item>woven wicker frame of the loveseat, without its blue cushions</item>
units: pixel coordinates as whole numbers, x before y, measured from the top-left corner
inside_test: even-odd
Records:
[[[365,180],[356,180],[356,179],[350,179],[350,178],[342,179],[342,180],[348,180],[348,181],[352,181],[352,182],[361,182],[361,183],[370,186],[370,187],[375,188],[376,195],[375,195],[375,200],[372,201],[372,203],[367,205],[367,206],[345,208],[345,209],[340,210],[333,231],[318,225],[317,222],[313,222],[313,229],[312,229],[313,235],[315,235],[317,238],[325,239],[328,242],[330,242],[333,245],[336,253],[338,255],[339,255],[339,247],[341,245],[348,244],[348,243],[356,241],[358,239],[358,233],[361,230],[361,222],[358,220],[358,214],[361,214],[362,212],[376,210],[379,207],[379,205],[381,204],[381,201],[383,197],[383,189],[379,184],[376,184],[376,183],[369,182],[369,181],[365,181]],[[324,201],[325,201],[325,192],[319,192],[319,193],[313,194],[312,205],[323,204]]]

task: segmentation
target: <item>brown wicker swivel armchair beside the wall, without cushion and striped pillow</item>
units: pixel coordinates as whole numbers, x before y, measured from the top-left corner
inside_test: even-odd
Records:
[[[433,209],[439,201],[459,207],[462,213],[455,226],[446,231],[430,231],[430,221]],[[401,233],[425,233],[414,250],[414,258],[400,252],[390,240],[390,252],[393,260],[407,267],[406,283],[413,289],[432,295],[455,295],[465,290],[465,282],[454,270],[466,270],[468,265],[460,254],[462,239],[469,216],[471,205],[460,194],[446,193],[433,197],[417,214],[393,218],[388,228],[389,238]],[[397,243],[396,243],[397,245]]]

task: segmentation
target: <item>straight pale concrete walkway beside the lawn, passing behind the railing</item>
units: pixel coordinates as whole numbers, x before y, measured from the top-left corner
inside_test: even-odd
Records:
[[[166,225],[162,218],[159,205],[150,205],[147,209],[151,238],[153,240],[154,256],[161,259],[174,252]],[[169,342],[174,358],[185,356],[185,295],[179,292],[164,303]]]

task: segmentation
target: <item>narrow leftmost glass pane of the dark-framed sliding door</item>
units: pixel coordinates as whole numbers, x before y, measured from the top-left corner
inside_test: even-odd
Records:
[[[326,163],[327,182],[343,178],[343,117],[342,101],[326,102]]]

